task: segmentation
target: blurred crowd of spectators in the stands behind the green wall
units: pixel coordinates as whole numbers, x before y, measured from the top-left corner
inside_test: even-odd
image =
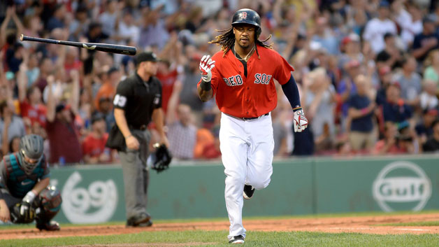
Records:
[[[1,153],[39,134],[51,164],[117,162],[105,147],[118,83],[134,57],[37,42],[131,45],[161,59],[166,132],[178,160],[217,159],[219,111],[196,93],[199,61],[231,27],[261,15],[259,39],[292,66],[310,127],[292,129],[278,85],[275,157],[419,154],[439,150],[439,3],[430,0],[0,1]],[[157,140],[150,126],[152,141]]]

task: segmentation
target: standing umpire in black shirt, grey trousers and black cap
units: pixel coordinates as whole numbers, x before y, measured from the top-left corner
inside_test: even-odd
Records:
[[[136,56],[136,74],[122,80],[113,100],[116,124],[106,146],[119,151],[124,174],[127,226],[150,226],[146,211],[148,171],[146,169],[152,120],[160,135],[160,143],[169,146],[164,133],[164,113],[161,109],[161,83],[154,77],[157,56],[141,52]]]

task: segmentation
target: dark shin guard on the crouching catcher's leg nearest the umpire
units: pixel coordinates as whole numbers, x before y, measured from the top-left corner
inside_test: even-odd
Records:
[[[36,209],[36,226],[38,229],[50,230],[45,226],[50,226],[50,220],[54,218],[61,209],[61,193],[55,187],[45,188],[38,195],[39,205]],[[56,224],[57,225],[57,224]],[[59,226],[57,227],[59,230]]]

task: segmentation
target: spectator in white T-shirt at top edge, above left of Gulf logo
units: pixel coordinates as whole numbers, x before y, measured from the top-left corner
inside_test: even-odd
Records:
[[[370,43],[375,54],[384,49],[384,34],[397,34],[395,22],[389,19],[389,6],[388,1],[381,1],[378,16],[369,20],[364,29],[363,38]]]

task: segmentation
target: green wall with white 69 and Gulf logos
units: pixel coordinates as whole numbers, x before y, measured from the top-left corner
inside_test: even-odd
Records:
[[[125,220],[118,165],[52,168],[62,192],[62,223]],[[224,167],[173,164],[150,173],[148,211],[155,219],[225,218]],[[306,158],[273,162],[268,188],[245,200],[243,216],[439,209],[439,155]]]

